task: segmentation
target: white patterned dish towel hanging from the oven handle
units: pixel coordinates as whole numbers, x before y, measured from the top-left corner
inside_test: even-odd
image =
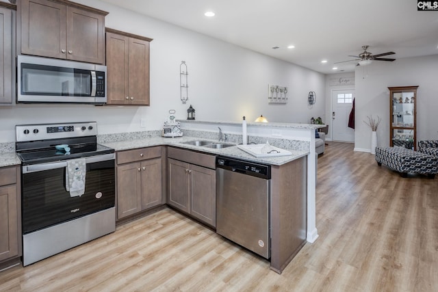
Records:
[[[66,190],[70,191],[70,197],[80,197],[85,193],[86,171],[85,158],[70,159],[67,161]]]

